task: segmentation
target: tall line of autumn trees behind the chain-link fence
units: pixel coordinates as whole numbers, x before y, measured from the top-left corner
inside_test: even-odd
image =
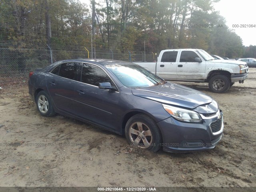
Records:
[[[201,48],[222,57],[255,57],[214,10],[218,1],[1,0],[0,42],[120,53]]]

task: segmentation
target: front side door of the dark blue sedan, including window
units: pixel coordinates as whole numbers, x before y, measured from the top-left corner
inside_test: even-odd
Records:
[[[108,74],[95,64],[82,63],[82,72],[76,83],[76,116],[95,124],[116,129],[120,114],[119,92]],[[98,88],[100,82],[110,82],[116,91]],[[119,130],[118,130],[119,131]]]

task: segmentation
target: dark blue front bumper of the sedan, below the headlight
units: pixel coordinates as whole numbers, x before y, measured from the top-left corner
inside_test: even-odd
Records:
[[[221,120],[220,120],[221,116]],[[162,133],[162,148],[166,152],[185,153],[209,150],[216,146],[223,136],[223,114],[212,119],[204,119],[203,123],[180,122],[170,117],[158,122]],[[210,125],[218,122],[218,132],[212,132]]]

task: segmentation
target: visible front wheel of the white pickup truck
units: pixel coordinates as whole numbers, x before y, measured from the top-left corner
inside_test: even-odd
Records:
[[[224,93],[230,88],[230,80],[225,75],[214,75],[210,78],[209,88],[214,93]]]

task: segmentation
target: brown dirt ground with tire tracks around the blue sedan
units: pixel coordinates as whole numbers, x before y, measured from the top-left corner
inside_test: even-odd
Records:
[[[256,68],[224,94],[224,136],[213,150],[152,153],[123,136],[60,115],[40,116],[27,82],[0,82],[0,186],[256,186]],[[15,84],[15,85],[14,85]]]

